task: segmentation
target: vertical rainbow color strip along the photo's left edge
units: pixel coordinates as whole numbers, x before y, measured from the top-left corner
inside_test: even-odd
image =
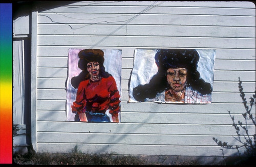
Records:
[[[12,163],[12,4],[0,4],[0,163]]]

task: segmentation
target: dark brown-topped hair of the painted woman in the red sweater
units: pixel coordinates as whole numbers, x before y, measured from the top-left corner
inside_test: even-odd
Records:
[[[74,76],[71,79],[71,85],[77,89],[80,82],[83,80],[87,80],[90,78],[90,74],[87,71],[87,64],[89,62],[98,62],[100,69],[99,69],[99,76],[103,78],[108,78],[112,76],[110,73],[105,71],[105,67],[103,66],[104,63],[104,52],[101,49],[84,49],[79,51],[78,53],[79,61],[78,67],[82,70],[78,76]]]

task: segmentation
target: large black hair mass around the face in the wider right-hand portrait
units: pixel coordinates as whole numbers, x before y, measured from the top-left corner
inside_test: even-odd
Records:
[[[155,98],[157,93],[170,89],[167,82],[166,71],[169,68],[186,68],[186,86],[191,86],[202,95],[211,94],[212,88],[209,83],[200,78],[197,71],[199,54],[195,49],[158,49],[155,55],[158,72],[150,82],[139,85],[133,90],[133,96],[137,101],[144,101],[145,98]]]

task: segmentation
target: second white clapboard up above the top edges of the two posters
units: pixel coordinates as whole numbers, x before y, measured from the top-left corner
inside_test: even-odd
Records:
[[[74,30],[71,30],[71,27]],[[38,35],[126,35],[126,36],[186,36],[253,38],[253,27],[181,26],[181,25],[83,25],[41,24]],[[60,31],[61,30],[61,31]]]

